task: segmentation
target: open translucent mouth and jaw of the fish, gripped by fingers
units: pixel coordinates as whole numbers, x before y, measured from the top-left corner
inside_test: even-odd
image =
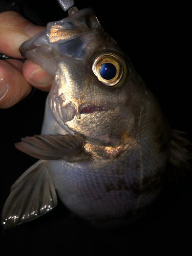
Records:
[[[92,8],[85,8],[57,22],[48,23],[46,29],[22,44],[20,54],[55,76],[57,63],[63,56],[84,58],[87,35],[97,29],[101,26],[95,12]]]

